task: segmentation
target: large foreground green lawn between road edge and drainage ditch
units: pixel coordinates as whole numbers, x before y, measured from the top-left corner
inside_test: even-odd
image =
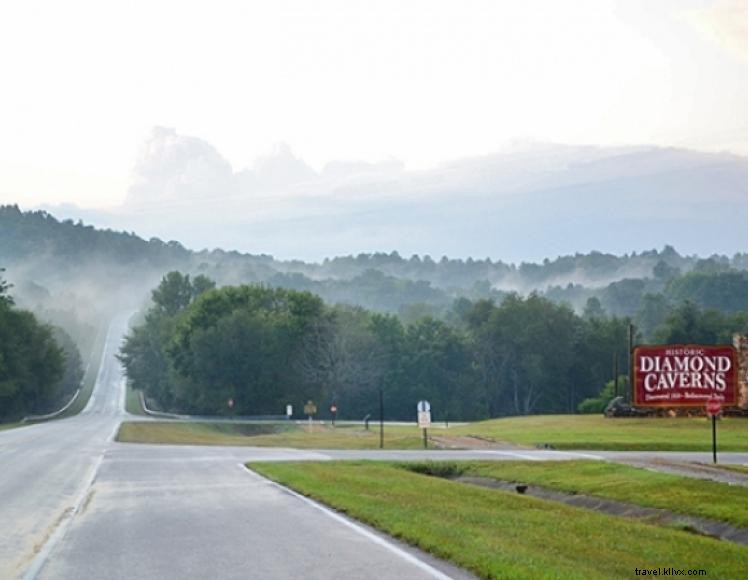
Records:
[[[483,578],[629,578],[665,567],[743,578],[748,570],[742,546],[391,464],[249,467]]]

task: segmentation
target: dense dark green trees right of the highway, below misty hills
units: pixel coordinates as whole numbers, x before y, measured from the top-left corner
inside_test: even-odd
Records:
[[[616,358],[625,374],[630,322],[606,315],[595,298],[578,315],[537,293],[462,298],[443,320],[404,322],[308,291],[217,288],[174,271],[120,357],[131,386],[167,411],[281,415],[286,404],[312,400],[323,414],[334,404],[340,417],[360,419],[378,412],[381,390],[388,419],[412,419],[427,399],[437,420],[473,420],[588,408]],[[748,312],[684,302],[651,337],[724,343],[747,324]]]

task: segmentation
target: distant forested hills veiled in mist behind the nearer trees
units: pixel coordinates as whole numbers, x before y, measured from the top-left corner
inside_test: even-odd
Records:
[[[170,270],[202,273],[219,284],[262,282],[310,290],[332,303],[359,304],[407,316],[442,315],[457,298],[500,300],[507,292],[539,291],[581,312],[590,298],[604,311],[633,316],[647,294],[671,303],[748,309],[748,254],[682,256],[673,247],[616,256],[600,252],[541,263],[490,259],[404,258],[396,252],[358,254],[321,263],[268,255],[195,252],[178,242],[145,241],[134,233],[99,230],[49,213],[0,207],[0,267],[23,301],[45,292],[114,306],[143,300]],[[726,290],[727,289],[727,290]],[[745,303],[745,304],[744,304]]]

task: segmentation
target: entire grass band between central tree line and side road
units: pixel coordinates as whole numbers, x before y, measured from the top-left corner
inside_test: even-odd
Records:
[[[185,443],[208,445],[257,445],[302,449],[375,449],[379,431],[358,425],[295,426],[280,433],[247,437],[221,423],[123,424],[121,440],[135,443]],[[710,451],[711,430],[705,419],[647,418],[605,419],[588,415],[512,417],[471,423],[449,429],[432,429],[440,438],[472,436],[480,439],[557,449],[610,449],[651,451]],[[464,440],[461,440],[464,441]],[[718,427],[720,451],[748,450],[748,420],[724,419]],[[421,431],[415,425],[386,426],[387,449],[420,449]],[[464,446],[464,445],[463,445]],[[433,444],[432,444],[433,447]]]

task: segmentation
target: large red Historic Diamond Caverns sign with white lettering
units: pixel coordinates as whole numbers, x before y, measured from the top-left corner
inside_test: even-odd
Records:
[[[634,405],[703,407],[737,402],[737,364],[731,346],[670,344],[634,349]]]

